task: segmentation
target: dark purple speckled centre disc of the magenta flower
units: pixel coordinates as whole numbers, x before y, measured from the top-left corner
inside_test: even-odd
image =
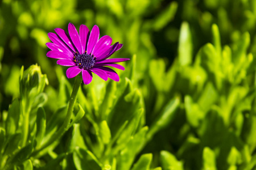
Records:
[[[92,54],[84,54],[75,53],[74,62],[80,69],[90,69],[93,67],[96,58]]]

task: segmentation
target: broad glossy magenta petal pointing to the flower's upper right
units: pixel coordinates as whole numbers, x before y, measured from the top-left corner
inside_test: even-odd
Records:
[[[103,36],[100,38],[100,40],[98,40],[98,42],[96,43],[96,45],[94,46],[93,50],[92,50],[92,54],[94,56],[100,56],[102,53],[106,52],[106,50],[109,49],[109,46],[112,43],[112,38],[110,36]]]

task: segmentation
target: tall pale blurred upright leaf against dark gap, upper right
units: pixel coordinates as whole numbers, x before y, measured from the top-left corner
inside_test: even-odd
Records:
[[[193,44],[189,24],[183,22],[180,28],[179,38],[179,63],[181,66],[189,65],[192,62]]]

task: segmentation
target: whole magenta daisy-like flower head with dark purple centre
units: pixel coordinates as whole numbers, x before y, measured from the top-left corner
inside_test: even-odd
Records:
[[[100,36],[100,30],[94,25],[90,32],[86,25],[80,25],[79,33],[72,23],[68,24],[68,33],[61,28],[55,28],[55,33],[49,32],[47,42],[51,51],[46,56],[56,58],[57,64],[69,66],[66,74],[68,78],[73,78],[82,72],[82,79],[85,84],[92,82],[92,72],[105,81],[108,78],[119,81],[119,76],[114,70],[106,66],[112,66],[120,70],[125,67],[117,62],[127,61],[130,58],[109,58],[114,52],[122,48],[122,44],[115,42],[111,45],[110,36]]]

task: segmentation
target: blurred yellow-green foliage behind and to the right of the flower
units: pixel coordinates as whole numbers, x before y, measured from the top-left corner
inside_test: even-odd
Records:
[[[46,57],[47,33],[69,22],[97,24],[123,44],[113,57],[131,58],[118,74],[141,93],[149,127],[135,160],[152,153],[151,167],[163,169],[255,169],[256,1],[3,0],[1,113],[19,96],[22,65],[38,63],[53,101],[67,68]]]

